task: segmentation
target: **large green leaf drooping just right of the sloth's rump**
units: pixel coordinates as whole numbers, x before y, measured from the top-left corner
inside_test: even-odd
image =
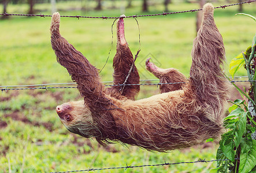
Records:
[[[229,118],[238,118],[238,121],[236,121],[235,123],[232,122],[234,123],[234,125],[229,126],[229,129],[232,130],[223,134],[220,141],[221,151],[231,161],[235,160],[236,149],[238,148],[242,140],[244,130],[246,129],[247,113],[248,112],[244,112],[242,108],[238,107],[236,110],[233,110],[227,118],[225,118],[227,121],[230,121]]]

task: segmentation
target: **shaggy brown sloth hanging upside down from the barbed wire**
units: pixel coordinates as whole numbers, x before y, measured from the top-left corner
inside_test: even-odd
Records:
[[[84,100],[57,106],[62,124],[72,133],[100,144],[121,142],[148,151],[168,152],[218,138],[228,99],[223,72],[225,50],[213,18],[214,7],[203,7],[201,28],[191,52],[190,77],[178,70],[160,69],[146,61],[146,69],[161,82],[158,95],[135,100],[139,74],[124,36],[124,18],[117,22],[117,50],[113,59],[113,82],[107,88],[96,67],[61,36],[60,14],[51,20],[51,46],[57,61],[68,70]],[[131,71],[130,71],[131,70]],[[118,84],[131,85],[118,85]]]

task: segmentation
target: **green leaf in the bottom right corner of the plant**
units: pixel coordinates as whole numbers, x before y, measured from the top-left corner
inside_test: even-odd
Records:
[[[256,166],[256,141],[253,140],[253,145],[247,153],[241,153],[239,172],[250,172]]]

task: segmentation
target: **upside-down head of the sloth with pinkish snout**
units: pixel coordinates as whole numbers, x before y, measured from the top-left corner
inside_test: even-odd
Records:
[[[72,133],[89,138],[98,136],[99,130],[92,120],[90,109],[83,100],[72,101],[56,107],[62,124]]]

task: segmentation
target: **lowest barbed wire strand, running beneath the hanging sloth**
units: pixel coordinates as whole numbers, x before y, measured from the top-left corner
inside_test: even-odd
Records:
[[[69,173],[69,172],[89,172],[89,171],[100,171],[100,170],[113,170],[113,169],[125,169],[128,168],[139,168],[139,167],[155,167],[155,166],[168,166],[168,165],[175,165],[175,164],[191,164],[191,163],[207,163],[207,162],[213,162],[213,161],[228,161],[228,159],[219,159],[219,160],[205,160],[205,159],[199,159],[198,161],[183,161],[179,163],[161,163],[161,164],[145,164],[141,166],[128,166],[126,164],[125,167],[110,167],[110,168],[88,168],[86,170],[75,170],[75,171],[61,171],[61,172],[50,172],[50,173]]]

